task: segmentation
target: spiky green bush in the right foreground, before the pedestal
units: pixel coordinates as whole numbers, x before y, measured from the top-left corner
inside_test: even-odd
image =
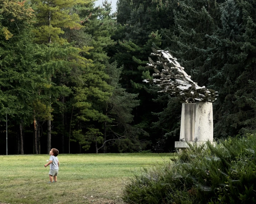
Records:
[[[190,146],[164,165],[143,169],[124,190],[126,203],[256,203],[256,136]]]

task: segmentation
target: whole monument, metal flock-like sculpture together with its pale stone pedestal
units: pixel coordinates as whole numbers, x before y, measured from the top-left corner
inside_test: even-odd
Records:
[[[180,140],[175,142],[175,147],[187,148],[188,143],[213,142],[212,102],[216,100],[217,92],[193,82],[184,67],[168,51],[153,47],[152,51],[150,56],[157,56],[158,61],[154,62],[149,57],[146,68],[153,68],[153,77],[160,78],[146,79],[144,82],[155,83],[161,88],[159,92],[178,96],[182,102]]]

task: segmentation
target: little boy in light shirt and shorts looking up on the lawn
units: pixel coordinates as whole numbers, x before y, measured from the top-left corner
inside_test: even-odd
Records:
[[[49,162],[45,164],[44,167],[47,167],[48,165],[50,165],[50,171],[49,171],[50,182],[48,183],[53,183],[53,182],[57,182],[57,175],[59,171],[59,160],[57,156],[59,154],[59,151],[58,149],[52,148],[49,154],[50,154]],[[53,177],[54,177],[54,180],[53,180]]]

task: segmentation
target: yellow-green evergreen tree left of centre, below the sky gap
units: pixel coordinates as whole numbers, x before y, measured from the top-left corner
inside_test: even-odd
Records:
[[[108,60],[106,47],[113,44],[111,32],[115,29],[110,16],[110,4],[106,1],[102,8],[94,4],[78,5],[77,14],[81,17],[80,30],[66,30],[64,37],[82,49],[81,57],[88,61],[83,66],[77,66],[75,77],[70,76],[73,96],[69,98],[74,107],[72,117],[73,139],[81,147],[88,150],[91,143],[102,143],[102,123],[107,117],[104,113],[105,103],[111,96],[113,88],[106,83],[109,76],[105,73],[105,63]],[[80,73],[79,73],[80,72]],[[97,133],[97,134],[96,134]],[[71,128],[70,128],[71,134]]]

